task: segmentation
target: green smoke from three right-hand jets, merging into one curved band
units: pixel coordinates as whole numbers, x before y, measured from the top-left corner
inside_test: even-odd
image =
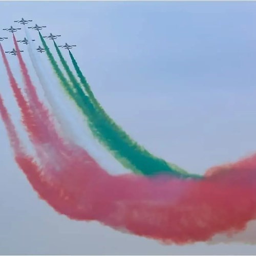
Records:
[[[56,61],[54,60],[44,38],[40,36],[45,48],[47,48],[48,57],[54,69],[56,69]],[[70,70],[66,60],[63,58],[59,48],[54,42],[55,49],[60,58],[62,66],[65,68],[69,79],[73,85],[72,93],[70,89],[66,90],[70,96],[75,100],[80,110],[86,115],[89,127],[93,135],[114,155],[114,157],[123,164],[126,168],[130,168],[135,173],[142,173],[144,175],[155,175],[158,173],[168,173],[178,177],[195,177],[198,175],[190,175],[180,167],[169,164],[163,159],[151,155],[145,148],[133,141],[122,129],[119,127],[101,108],[100,104],[95,99],[86,78],[82,75],[73,55],[71,54],[73,65],[76,69],[77,75],[80,78],[82,87],[76,80],[72,71]],[[51,55],[51,56],[50,56]],[[55,65],[53,65],[55,62]],[[59,68],[58,68],[59,69]],[[60,71],[61,72],[61,71]],[[58,74],[59,72],[56,72]],[[60,80],[66,79],[63,74]],[[63,81],[61,82],[63,85]],[[82,101],[82,102],[81,102]],[[82,104],[83,103],[83,104]]]

